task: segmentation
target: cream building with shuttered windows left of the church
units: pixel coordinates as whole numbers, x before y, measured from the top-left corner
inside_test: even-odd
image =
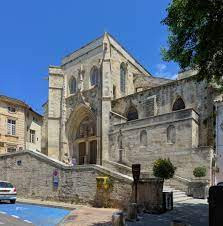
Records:
[[[41,151],[42,116],[21,100],[0,95],[0,153]]]

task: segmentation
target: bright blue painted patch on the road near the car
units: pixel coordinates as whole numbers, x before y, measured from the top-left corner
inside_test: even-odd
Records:
[[[0,212],[5,212],[10,216],[18,216],[20,219],[32,222],[32,224],[37,226],[57,225],[70,213],[66,209],[20,203],[0,203]]]

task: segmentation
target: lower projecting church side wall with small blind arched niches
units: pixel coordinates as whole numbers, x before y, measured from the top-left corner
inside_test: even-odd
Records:
[[[170,158],[177,167],[176,174],[184,178],[193,177],[193,169],[206,166],[210,179],[212,152],[210,148],[198,147],[199,117],[192,109],[181,110],[156,117],[129,121],[114,125],[110,130],[109,160],[131,166],[142,164],[142,169],[151,171],[155,160]],[[173,142],[168,141],[169,126],[175,129]],[[122,131],[122,152],[119,150],[120,129]],[[141,134],[147,140],[141,140]],[[196,137],[196,139],[195,139]],[[120,158],[120,155],[122,157]]]

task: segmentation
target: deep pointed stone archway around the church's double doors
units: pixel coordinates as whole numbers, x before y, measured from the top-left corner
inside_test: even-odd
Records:
[[[77,164],[96,164],[99,157],[97,118],[91,108],[79,104],[66,123],[70,156]]]

